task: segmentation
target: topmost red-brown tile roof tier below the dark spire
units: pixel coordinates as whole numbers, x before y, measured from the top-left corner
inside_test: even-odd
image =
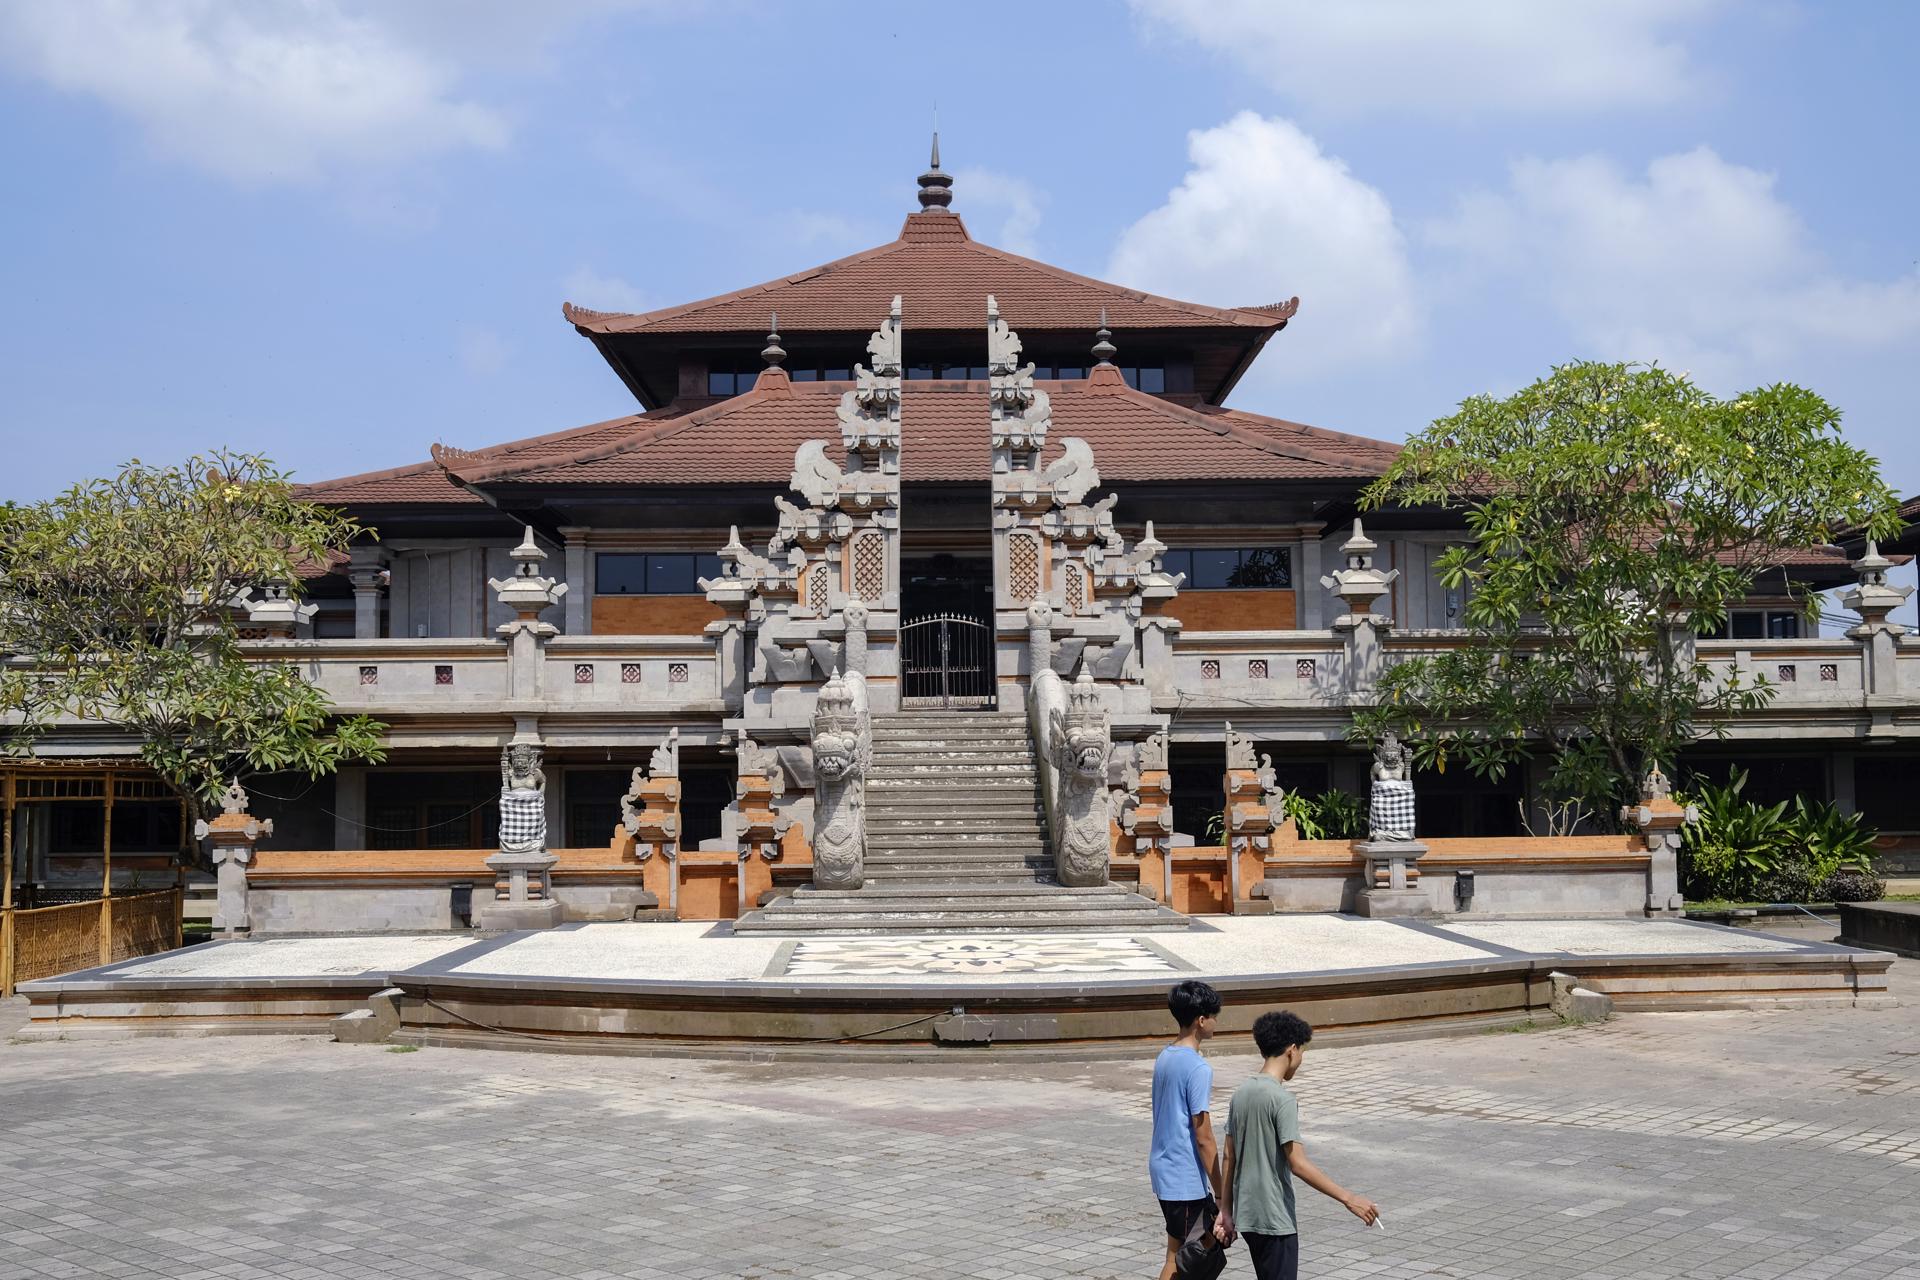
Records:
[[[912,330],[970,330],[987,324],[987,294],[1016,330],[1091,332],[1106,309],[1108,324],[1127,328],[1242,328],[1250,336],[1279,330],[1300,299],[1261,307],[1202,307],[1062,271],[1031,257],[979,244],[954,213],[908,215],[900,238],[852,257],[753,288],[643,315],[563,305],[582,334],[720,334],[755,332],[770,311],[787,332],[872,330],[895,294]],[[912,338],[908,338],[908,344]],[[908,345],[908,355],[912,347]]]

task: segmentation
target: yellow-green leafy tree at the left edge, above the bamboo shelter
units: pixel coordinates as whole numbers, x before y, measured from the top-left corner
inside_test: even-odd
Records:
[[[0,745],[60,722],[113,725],[200,816],[257,771],[380,760],[386,725],[332,716],[294,662],[242,654],[234,601],[300,589],[359,533],[263,459],[129,462],[111,480],[0,507]]]

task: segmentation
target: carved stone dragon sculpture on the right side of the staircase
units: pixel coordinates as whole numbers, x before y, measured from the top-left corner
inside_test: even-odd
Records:
[[[1062,885],[1104,885],[1112,848],[1106,766],[1114,737],[1092,676],[1083,668],[1069,687],[1052,670],[1035,674],[1031,720],[1054,875]]]

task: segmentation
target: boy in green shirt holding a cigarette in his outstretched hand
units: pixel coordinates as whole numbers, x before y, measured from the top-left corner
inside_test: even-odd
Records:
[[[1219,1221],[1213,1234],[1231,1244],[1246,1236],[1256,1280],[1294,1280],[1300,1272],[1300,1226],[1294,1219],[1294,1180],[1338,1199],[1373,1226],[1379,1207],[1344,1190],[1308,1159],[1300,1146],[1300,1103],[1286,1080],[1300,1071],[1313,1029],[1298,1013],[1261,1013],[1254,1044],[1265,1059],[1260,1075],[1233,1090],[1227,1107],[1227,1153],[1221,1163]]]

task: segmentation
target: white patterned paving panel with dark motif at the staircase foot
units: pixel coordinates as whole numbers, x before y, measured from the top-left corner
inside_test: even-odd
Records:
[[[1173,973],[1165,956],[1127,936],[808,938],[781,977],[910,977],[1002,973]]]

